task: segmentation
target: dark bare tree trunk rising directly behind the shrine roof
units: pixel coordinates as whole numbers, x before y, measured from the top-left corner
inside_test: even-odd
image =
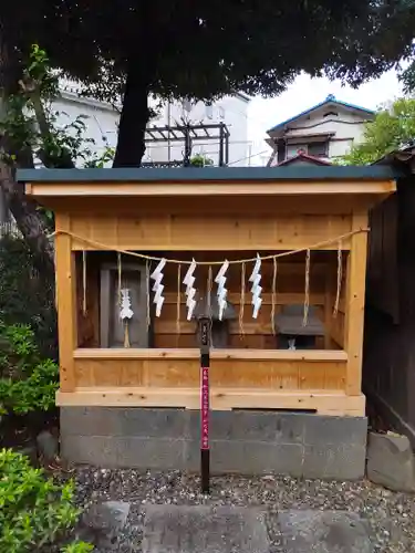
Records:
[[[152,67],[149,60],[143,58],[132,56],[128,64],[113,167],[139,167],[146,149],[144,136],[149,116]]]

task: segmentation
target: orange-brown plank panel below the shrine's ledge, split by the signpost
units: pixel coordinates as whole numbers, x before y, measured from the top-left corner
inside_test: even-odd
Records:
[[[199,361],[76,358],[77,387],[198,387]],[[345,361],[211,359],[214,387],[344,389]]]

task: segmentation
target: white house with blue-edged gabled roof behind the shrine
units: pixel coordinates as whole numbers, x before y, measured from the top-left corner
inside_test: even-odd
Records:
[[[329,95],[320,104],[268,131],[267,143],[273,149],[268,165],[279,165],[297,156],[299,150],[326,160],[343,156],[363,138],[364,124],[373,117],[373,111]]]

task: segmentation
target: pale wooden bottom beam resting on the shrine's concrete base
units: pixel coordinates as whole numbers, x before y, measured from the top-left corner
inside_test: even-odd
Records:
[[[59,406],[176,407],[199,408],[198,388],[76,388],[56,394]],[[276,392],[269,389],[212,388],[211,409],[292,409],[317,410],[333,416],[364,416],[365,397],[347,396],[339,390]]]

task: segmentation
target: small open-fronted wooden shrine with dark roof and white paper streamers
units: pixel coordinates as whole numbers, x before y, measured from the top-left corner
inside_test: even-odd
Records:
[[[387,167],[21,170],[55,213],[61,406],[364,415],[367,213]]]

